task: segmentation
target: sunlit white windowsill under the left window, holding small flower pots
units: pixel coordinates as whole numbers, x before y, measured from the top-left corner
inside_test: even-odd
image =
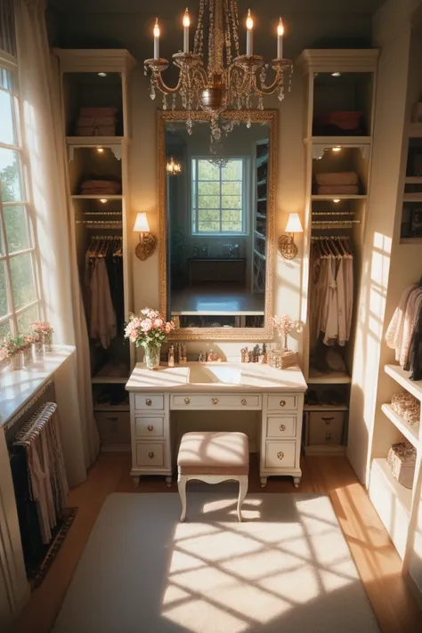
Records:
[[[45,385],[75,352],[71,345],[54,345],[53,353],[37,357],[28,369],[0,372],[0,427],[4,426]]]

